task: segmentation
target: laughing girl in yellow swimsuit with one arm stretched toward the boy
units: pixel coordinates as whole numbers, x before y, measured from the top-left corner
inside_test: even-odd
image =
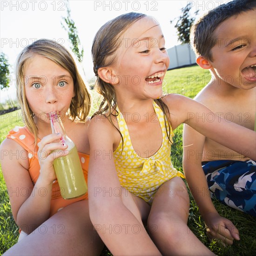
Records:
[[[152,17],[127,13],[108,21],[95,35],[92,56],[103,95],[88,128],[94,228],[114,255],[213,255],[187,226],[184,176],[170,160],[173,130],[189,124],[235,150],[252,148],[255,157],[253,131],[182,95],[162,95],[169,58]],[[207,114],[215,121],[197,118]]]

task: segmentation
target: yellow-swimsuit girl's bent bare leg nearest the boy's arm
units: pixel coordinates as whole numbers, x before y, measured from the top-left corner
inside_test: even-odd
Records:
[[[148,216],[149,234],[163,255],[214,255],[187,226],[189,195],[180,177],[155,194]]]

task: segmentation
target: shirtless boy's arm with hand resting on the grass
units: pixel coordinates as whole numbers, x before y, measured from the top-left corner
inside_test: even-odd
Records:
[[[220,216],[216,211],[210,195],[208,184],[202,169],[202,154],[205,136],[188,125],[183,129],[183,170],[189,189],[205,220],[210,236],[232,244],[239,240],[239,232],[232,222]]]

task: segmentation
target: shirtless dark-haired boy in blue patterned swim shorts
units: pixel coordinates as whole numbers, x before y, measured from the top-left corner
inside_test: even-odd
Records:
[[[195,100],[226,120],[254,130],[256,2],[233,0],[211,10],[194,25],[191,36],[197,64],[211,73],[211,81]],[[256,136],[251,139],[256,141]],[[222,239],[223,232],[230,232],[238,240],[238,230],[219,216],[209,195],[256,216],[256,162],[247,157],[250,148],[232,151],[187,125],[183,146],[184,173],[210,235]]]

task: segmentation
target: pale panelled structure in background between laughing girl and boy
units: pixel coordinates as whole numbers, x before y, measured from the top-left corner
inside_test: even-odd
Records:
[[[196,64],[195,52],[189,44],[175,45],[167,49],[167,53],[170,58],[168,70]]]

